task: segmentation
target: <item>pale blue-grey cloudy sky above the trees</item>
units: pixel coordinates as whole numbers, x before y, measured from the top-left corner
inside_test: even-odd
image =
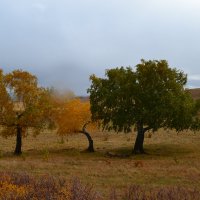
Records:
[[[200,87],[199,0],[0,0],[0,68],[86,95],[89,76],[165,59]]]

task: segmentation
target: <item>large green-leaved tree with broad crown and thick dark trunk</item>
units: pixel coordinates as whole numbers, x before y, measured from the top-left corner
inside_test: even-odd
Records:
[[[106,71],[106,78],[90,77],[88,89],[92,119],[104,129],[131,131],[137,128],[133,153],[144,153],[148,130],[192,128],[195,102],[184,86],[187,75],[170,68],[165,60],[141,60],[135,70],[127,67]]]

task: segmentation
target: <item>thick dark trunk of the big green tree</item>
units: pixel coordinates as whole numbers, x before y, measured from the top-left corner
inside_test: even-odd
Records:
[[[144,133],[145,133],[145,129],[143,128],[143,124],[141,122],[138,122],[137,123],[137,137],[136,137],[135,145],[133,148],[134,154],[145,153],[144,148],[143,148]]]

